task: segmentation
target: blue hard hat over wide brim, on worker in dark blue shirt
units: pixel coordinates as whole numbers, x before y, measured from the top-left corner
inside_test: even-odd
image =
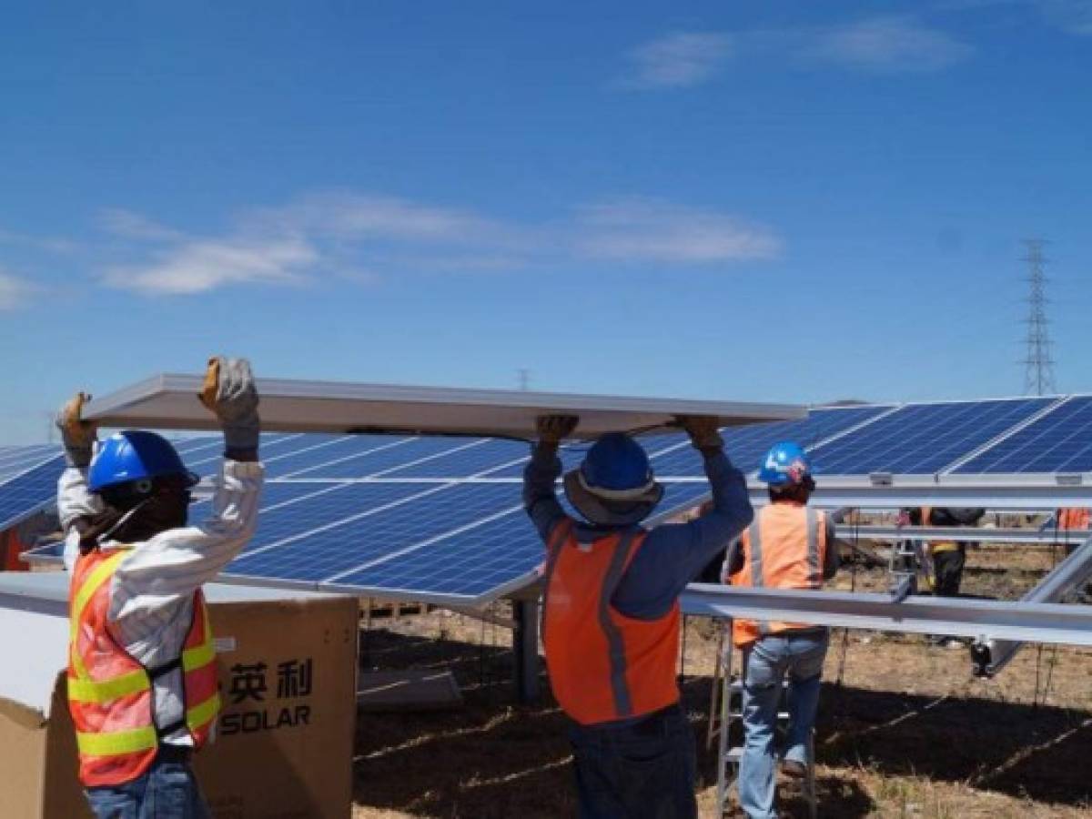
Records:
[[[592,444],[580,467],[565,476],[565,490],[587,520],[608,525],[637,523],[664,494],[644,448],[624,432]]]

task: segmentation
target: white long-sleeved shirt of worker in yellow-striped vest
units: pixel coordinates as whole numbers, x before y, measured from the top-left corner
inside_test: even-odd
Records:
[[[258,522],[263,477],[261,463],[225,460],[212,513],[203,523],[167,530],[143,543],[99,543],[104,550],[129,549],[111,581],[108,618],[115,637],[145,668],[181,655],[193,619],[193,593],[232,562],[250,539]],[[57,508],[67,532],[64,567],[71,573],[80,555],[80,534],[72,529],[73,521],[103,511],[102,500],[87,489],[86,470],[64,471]],[[153,698],[156,725],[183,719],[181,670],[155,678]],[[191,739],[182,728],[165,741],[189,745]]]

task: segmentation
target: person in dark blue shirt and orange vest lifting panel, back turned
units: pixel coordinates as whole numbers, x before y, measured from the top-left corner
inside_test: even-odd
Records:
[[[543,416],[523,500],[546,543],[543,643],[554,695],[570,717],[582,819],[697,817],[693,733],[679,707],[678,596],[751,520],[743,474],[716,420],[679,418],[704,460],[712,508],[687,523],[641,526],[663,496],[649,456],[610,432],[565,476],[582,520],[554,492],[558,443],[578,419]]]

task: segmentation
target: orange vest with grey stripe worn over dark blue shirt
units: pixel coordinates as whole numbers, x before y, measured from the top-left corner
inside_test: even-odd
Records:
[[[678,702],[679,605],[638,620],[610,605],[648,533],[624,530],[578,542],[572,521],[550,534],[543,644],[558,703],[582,725],[641,716]]]

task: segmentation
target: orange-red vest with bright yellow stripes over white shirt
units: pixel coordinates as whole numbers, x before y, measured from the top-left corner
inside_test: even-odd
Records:
[[[152,764],[161,726],[153,716],[152,678],[180,667],[186,725],[200,748],[219,712],[216,650],[200,590],[193,594],[193,621],[178,661],[149,669],[127,652],[107,619],[110,580],[128,549],[82,555],[69,593],[68,700],[80,753],[80,781],[88,787],[120,785]]]

